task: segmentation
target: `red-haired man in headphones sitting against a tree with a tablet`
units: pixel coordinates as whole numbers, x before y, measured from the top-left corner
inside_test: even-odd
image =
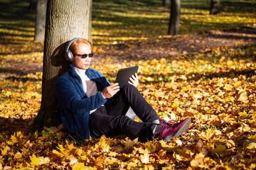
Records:
[[[85,139],[127,135],[146,142],[169,141],[188,129],[191,118],[180,123],[166,123],[159,118],[137,90],[137,74],[119,89],[117,83],[110,84],[102,73],[90,68],[92,56],[92,44],[88,40],[70,40],[65,54],[70,68],[55,82],[61,118],[69,132]],[[125,116],[129,107],[143,123]]]

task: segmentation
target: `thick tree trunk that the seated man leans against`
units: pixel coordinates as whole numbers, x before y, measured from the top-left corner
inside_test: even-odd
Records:
[[[60,125],[55,80],[68,65],[64,57],[67,42],[88,38],[89,17],[90,0],[48,0],[41,108],[29,127],[31,130]]]

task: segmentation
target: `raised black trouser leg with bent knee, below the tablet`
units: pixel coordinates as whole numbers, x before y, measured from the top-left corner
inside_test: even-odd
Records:
[[[116,95],[114,95],[113,102],[106,106],[108,115],[125,115],[129,109],[132,110],[143,122],[153,122],[159,120],[154,108],[147,103],[138,89],[129,84],[124,86]]]

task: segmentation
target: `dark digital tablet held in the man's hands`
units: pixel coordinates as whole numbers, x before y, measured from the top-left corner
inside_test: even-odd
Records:
[[[119,83],[120,89],[128,84],[129,78],[132,77],[132,75],[135,75],[137,73],[139,66],[134,67],[128,67],[125,69],[119,69],[117,72],[117,79],[116,83]]]

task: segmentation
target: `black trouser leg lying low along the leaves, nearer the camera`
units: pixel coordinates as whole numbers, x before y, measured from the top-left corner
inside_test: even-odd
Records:
[[[128,137],[139,137],[139,140],[152,140],[153,123],[139,123],[124,115],[107,115],[106,108],[100,107],[90,114],[90,136],[98,138],[102,135],[114,137],[116,135],[127,135]]]

